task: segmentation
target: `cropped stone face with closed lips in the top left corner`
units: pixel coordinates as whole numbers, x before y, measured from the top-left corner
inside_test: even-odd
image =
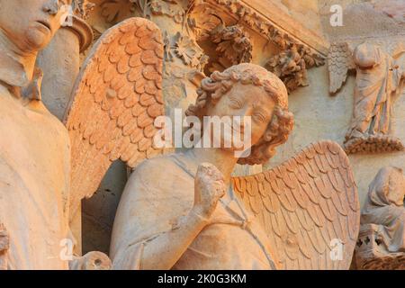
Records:
[[[60,28],[71,0],[0,0],[0,29],[23,52],[44,49]]]

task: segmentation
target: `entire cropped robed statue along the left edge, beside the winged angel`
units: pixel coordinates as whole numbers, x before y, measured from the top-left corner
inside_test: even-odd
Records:
[[[67,130],[40,102],[34,64],[63,23],[58,1],[0,1],[0,222],[8,269],[66,269]]]

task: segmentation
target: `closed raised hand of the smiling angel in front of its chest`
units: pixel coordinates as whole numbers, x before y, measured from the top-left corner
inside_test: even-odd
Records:
[[[225,195],[225,189],[220,170],[209,163],[202,163],[195,176],[193,212],[210,219],[220,198]]]

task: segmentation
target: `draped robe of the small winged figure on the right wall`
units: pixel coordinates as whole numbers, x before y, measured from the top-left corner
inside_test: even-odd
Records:
[[[354,119],[347,139],[387,135],[391,130],[392,101],[401,93],[401,68],[383,54],[371,69],[357,68]]]

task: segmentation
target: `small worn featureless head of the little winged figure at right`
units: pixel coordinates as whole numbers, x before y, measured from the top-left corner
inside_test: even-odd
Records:
[[[381,63],[382,51],[374,44],[363,43],[356,47],[353,55],[356,66],[369,69]]]

